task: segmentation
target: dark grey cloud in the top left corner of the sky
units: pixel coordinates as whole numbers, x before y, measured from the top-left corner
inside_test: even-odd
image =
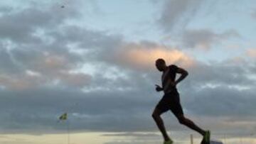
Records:
[[[36,7],[36,6],[35,6]],[[18,13],[6,13],[0,17],[1,38],[14,40],[18,43],[40,42],[40,38],[33,36],[37,28],[51,28],[64,23],[70,16],[79,16],[73,9],[60,11],[54,6],[39,9],[38,7],[23,9]],[[53,14],[54,13],[54,14]]]

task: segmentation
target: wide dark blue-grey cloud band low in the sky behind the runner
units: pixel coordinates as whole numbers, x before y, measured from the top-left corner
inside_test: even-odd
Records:
[[[97,90],[85,93],[77,90],[72,91],[71,89],[39,89],[31,92],[23,91],[22,93],[2,91],[4,92],[1,94],[4,96],[3,100],[8,99],[2,101],[1,106],[6,108],[6,104],[8,104],[10,107],[8,107],[7,112],[11,113],[11,115],[3,114],[3,121],[6,121],[6,119],[9,121],[9,124],[7,123],[4,126],[7,130],[17,129],[20,126],[19,128],[22,131],[39,129],[45,126],[45,128],[49,128],[48,131],[60,132],[62,128],[55,125],[55,118],[58,118],[61,111],[69,110],[72,131],[123,131],[124,129],[126,131],[156,131],[154,121],[151,118],[151,111],[159,101],[161,94],[154,92],[154,87],[150,83],[146,83],[144,78],[138,76],[139,74],[137,74],[137,77],[136,74],[133,75],[129,81],[134,81],[134,84],[140,82],[135,86],[139,87],[141,85],[140,88],[142,89],[129,91],[112,91],[116,87],[116,84],[113,83],[110,83],[109,91]],[[98,77],[95,87],[97,84],[105,87],[104,84],[100,84],[100,82],[103,82],[100,79],[103,78]],[[194,84],[194,82],[197,82],[196,79],[195,77],[191,80],[189,87],[184,85],[190,84],[188,80],[180,86],[181,100],[184,109],[189,113],[196,114],[199,117],[207,116],[215,119],[226,116],[230,118],[234,116],[252,116],[247,121],[251,121],[255,116],[254,111],[248,111],[255,109],[254,89],[239,91],[238,89],[230,89],[228,86],[198,89],[197,84]],[[221,82],[221,79],[219,80]],[[111,89],[111,87],[113,88]],[[12,106],[19,109],[11,108]],[[19,110],[26,111],[26,113]],[[2,113],[6,112],[2,111]],[[174,116],[171,118],[174,118]],[[168,127],[171,124],[170,127],[173,131],[181,130],[178,121],[175,121],[174,118],[172,123],[166,124]],[[238,119],[238,121],[240,120]],[[31,123],[33,128],[30,127]],[[215,124],[218,129],[221,128],[220,123]]]

